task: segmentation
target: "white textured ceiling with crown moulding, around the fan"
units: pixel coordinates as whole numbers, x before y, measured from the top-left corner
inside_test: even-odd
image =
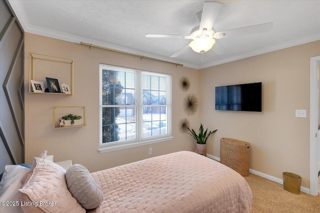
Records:
[[[193,68],[204,68],[320,39],[320,0],[217,0],[213,27],[222,31],[273,22],[270,32],[218,39],[226,51],[203,54],[190,40],[145,34],[189,35],[204,0],[9,0],[26,32],[85,42]],[[214,46],[213,46],[214,48]]]

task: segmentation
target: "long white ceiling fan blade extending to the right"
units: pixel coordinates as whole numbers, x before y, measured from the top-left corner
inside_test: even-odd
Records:
[[[228,38],[233,36],[241,36],[247,34],[255,34],[255,33],[262,33],[262,32],[269,32],[272,29],[273,23],[262,23],[252,26],[245,26],[235,29],[224,30],[220,32],[216,32],[214,34],[214,38]]]

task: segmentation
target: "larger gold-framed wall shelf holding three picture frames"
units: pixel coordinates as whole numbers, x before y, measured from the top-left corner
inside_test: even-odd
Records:
[[[60,85],[65,83],[69,86],[70,93],[53,92],[33,92],[31,80],[42,81],[47,88],[45,77],[57,79]],[[54,94],[72,95],[73,94],[73,59],[62,58],[50,55],[43,55],[29,52],[29,93],[32,94]]]

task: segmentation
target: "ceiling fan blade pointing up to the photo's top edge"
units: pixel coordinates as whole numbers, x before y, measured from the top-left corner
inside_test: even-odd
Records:
[[[223,4],[213,1],[205,1],[203,4],[201,21],[200,21],[200,30],[203,28],[208,30],[212,29],[212,26],[215,22],[216,17],[218,16]]]

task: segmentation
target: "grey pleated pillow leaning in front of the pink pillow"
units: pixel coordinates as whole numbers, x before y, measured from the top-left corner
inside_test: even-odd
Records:
[[[71,166],[65,173],[65,180],[70,193],[83,208],[94,209],[102,202],[102,190],[84,166]]]

